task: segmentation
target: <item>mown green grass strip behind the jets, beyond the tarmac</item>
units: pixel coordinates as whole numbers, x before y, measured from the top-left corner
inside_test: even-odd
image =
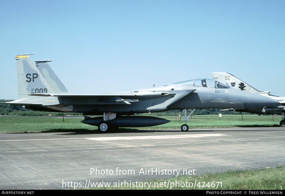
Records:
[[[155,116],[155,115],[154,115]],[[164,125],[153,127],[134,127],[126,129],[180,129],[181,125],[185,123],[182,118],[181,121],[174,119],[176,116],[158,116],[169,119],[171,122]],[[80,123],[83,119],[79,118],[64,118],[62,117],[2,117],[0,116],[0,132],[47,132],[47,131],[90,131],[97,130],[97,127]],[[258,116],[258,115],[195,115],[192,120],[187,121],[189,128],[219,128],[219,127],[279,127],[281,117],[272,116]],[[124,129],[124,128],[120,128]],[[119,129],[119,130],[120,130]]]

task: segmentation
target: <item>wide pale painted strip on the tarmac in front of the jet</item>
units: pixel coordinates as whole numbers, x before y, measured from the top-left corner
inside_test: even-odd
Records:
[[[132,140],[132,139],[180,139],[180,138],[197,138],[197,137],[219,137],[223,134],[192,134],[192,135],[154,135],[154,136],[126,136],[126,137],[87,137],[85,139],[107,141],[107,140]]]

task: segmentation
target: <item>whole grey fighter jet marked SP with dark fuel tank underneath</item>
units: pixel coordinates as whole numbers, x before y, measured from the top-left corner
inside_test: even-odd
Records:
[[[184,110],[185,124],[181,130],[188,131],[188,109],[257,108],[278,103],[265,96],[230,88],[214,79],[188,80],[110,94],[72,94],[48,65],[51,60],[33,63],[28,55],[31,54],[15,56],[19,100],[6,104],[38,111],[83,113],[85,119],[81,122],[98,126],[102,132],[118,127],[147,127],[170,122],[135,113]]]

